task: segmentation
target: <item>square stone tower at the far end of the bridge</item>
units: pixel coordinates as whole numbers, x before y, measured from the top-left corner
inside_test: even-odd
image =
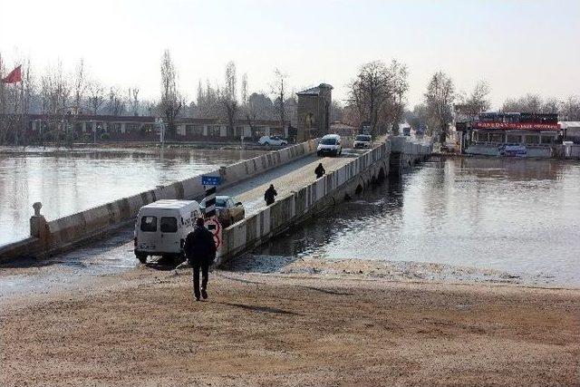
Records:
[[[315,139],[330,129],[330,105],[333,86],[321,83],[316,87],[296,92],[298,95],[298,131],[296,140]]]

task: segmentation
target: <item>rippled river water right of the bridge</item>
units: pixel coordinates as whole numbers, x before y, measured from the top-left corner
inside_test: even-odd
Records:
[[[580,285],[579,199],[578,163],[434,160],[255,254],[491,268]]]

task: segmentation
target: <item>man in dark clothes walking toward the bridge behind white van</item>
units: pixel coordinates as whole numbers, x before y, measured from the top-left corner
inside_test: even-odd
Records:
[[[196,301],[199,296],[208,298],[209,266],[216,259],[216,242],[214,236],[205,227],[203,218],[196,220],[196,227],[185,239],[185,256],[193,268],[193,293]],[[199,270],[201,269],[201,292],[199,292]]]

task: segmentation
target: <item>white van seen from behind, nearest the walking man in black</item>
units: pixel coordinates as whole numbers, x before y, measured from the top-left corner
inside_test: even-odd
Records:
[[[158,200],[143,206],[135,220],[135,256],[140,263],[147,256],[184,258],[185,238],[201,217],[195,200]]]

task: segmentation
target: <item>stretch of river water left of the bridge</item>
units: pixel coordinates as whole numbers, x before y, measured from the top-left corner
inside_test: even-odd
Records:
[[[261,154],[253,150],[0,148],[0,245],[52,220]]]

